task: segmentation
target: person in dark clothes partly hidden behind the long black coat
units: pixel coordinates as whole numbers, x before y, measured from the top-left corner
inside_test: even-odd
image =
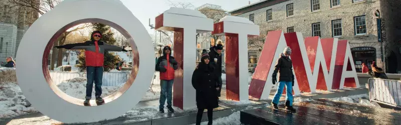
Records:
[[[219,88],[222,88],[223,82],[222,82],[222,50],[223,50],[223,44],[219,43],[215,46],[210,47],[210,52],[209,56],[214,63],[215,66],[215,73],[219,76]],[[215,61],[217,59],[217,61]],[[222,89],[219,89],[217,94],[220,97],[221,96]],[[220,99],[218,100],[220,101]]]

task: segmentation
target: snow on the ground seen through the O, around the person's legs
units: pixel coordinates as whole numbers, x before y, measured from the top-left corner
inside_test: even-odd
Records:
[[[108,96],[118,89],[121,88],[123,84],[120,86],[102,86],[102,97]],[[66,94],[80,99],[85,99],[86,96],[86,78],[76,77],[68,81],[63,81],[57,85],[63,92]],[[92,88],[92,97],[95,97],[95,84],[93,84]]]

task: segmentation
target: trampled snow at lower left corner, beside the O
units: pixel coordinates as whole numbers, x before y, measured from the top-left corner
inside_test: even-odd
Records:
[[[0,118],[37,112],[17,83],[0,83]]]

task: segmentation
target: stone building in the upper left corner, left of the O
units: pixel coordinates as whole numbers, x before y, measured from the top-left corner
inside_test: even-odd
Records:
[[[6,57],[16,58],[25,31],[39,17],[30,8],[11,6],[8,0],[0,0],[0,61],[4,64]]]

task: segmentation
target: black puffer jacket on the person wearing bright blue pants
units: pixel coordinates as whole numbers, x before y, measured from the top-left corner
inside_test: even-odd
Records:
[[[292,61],[289,57],[281,54],[277,60],[276,66],[274,66],[273,77],[277,76],[277,72],[280,72],[278,81],[293,81],[294,73],[292,73]]]

